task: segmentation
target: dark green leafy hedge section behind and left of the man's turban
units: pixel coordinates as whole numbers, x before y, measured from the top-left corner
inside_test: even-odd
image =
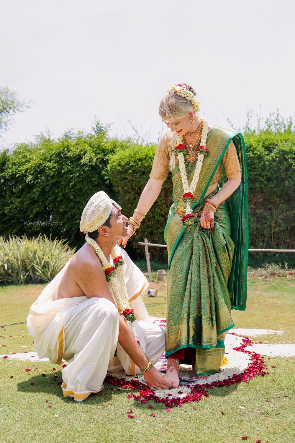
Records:
[[[1,152],[0,235],[42,233],[81,245],[84,206],[98,190],[111,193],[109,157],[127,143],[100,132],[68,132],[58,140],[41,136],[34,144]],[[36,225],[40,221],[43,225]]]

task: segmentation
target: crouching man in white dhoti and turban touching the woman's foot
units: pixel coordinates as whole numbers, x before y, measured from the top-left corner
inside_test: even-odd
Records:
[[[121,207],[100,191],[85,206],[80,230],[88,233],[94,246],[100,246],[112,265],[111,252],[126,236],[127,221]],[[62,360],[69,362],[61,371],[61,387],[65,396],[76,401],[103,389],[108,370],[123,368],[130,375],[143,371],[149,388],[171,387],[149,364],[149,360],[156,363],[164,352],[165,331],[151,323],[140,297],[148,282],[125,250],[116,248],[125,261],[123,280],[130,308],[136,315],[132,323],[136,338],[131,324],[115,304],[100,258],[87,242],[46,286],[27,317],[38,357],[47,357],[57,364]],[[117,280],[122,295],[119,288]]]

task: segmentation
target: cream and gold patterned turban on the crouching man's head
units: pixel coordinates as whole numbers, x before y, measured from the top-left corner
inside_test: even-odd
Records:
[[[113,203],[118,209],[122,209],[104,191],[99,191],[92,195],[84,207],[80,221],[80,231],[84,233],[93,232],[102,226],[111,214]]]

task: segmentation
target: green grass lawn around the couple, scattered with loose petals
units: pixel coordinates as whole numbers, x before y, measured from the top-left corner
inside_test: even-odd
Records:
[[[283,330],[283,335],[269,335],[259,341],[294,342],[295,279],[249,279],[248,285],[247,310],[233,312],[236,327]],[[143,296],[149,314],[165,317],[165,283],[152,282],[150,286],[158,293],[155,298]],[[31,303],[43,287],[0,287],[0,325],[25,321]],[[25,324],[1,328],[0,335],[0,354],[34,350]],[[247,435],[247,442],[251,443],[290,443],[295,441],[291,425],[294,358],[266,361],[269,375],[254,377],[248,384],[209,390],[209,397],[203,397],[199,403],[166,412],[163,404],[128,399],[128,390],[111,391],[112,386],[107,383],[103,396],[92,395],[76,403],[63,397],[57,385],[61,381],[60,366],[0,359],[0,442],[235,443]],[[131,408],[134,419],[126,414]],[[152,412],[156,417],[150,416]]]

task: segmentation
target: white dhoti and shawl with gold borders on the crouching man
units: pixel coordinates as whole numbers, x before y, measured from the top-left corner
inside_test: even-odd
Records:
[[[137,318],[133,323],[137,340],[155,363],[164,352],[165,330],[151,323],[140,297],[148,287],[146,278],[123,249],[122,256],[129,303]],[[51,299],[70,260],[31,306],[27,327],[39,358],[56,364],[68,361],[61,371],[63,393],[82,401],[103,388],[107,370],[124,369],[134,375],[140,369],[118,343],[119,312],[113,303],[86,296]],[[112,294],[110,284],[109,289]]]

